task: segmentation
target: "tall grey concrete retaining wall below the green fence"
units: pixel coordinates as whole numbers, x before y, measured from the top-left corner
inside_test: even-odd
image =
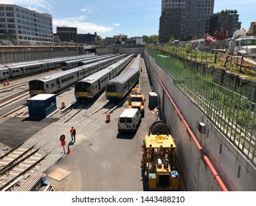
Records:
[[[201,143],[204,152],[210,158],[212,165],[230,191],[256,191],[256,168],[238,152],[235,146],[198,110],[193,102],[176,88],[173,79],[156,65],[155,60],[145,51],[145,63],[153,85],[153,90],[159,96],[159,106],[166,116],[166,123],[170,127],[172,135],[176,138],[176,157],[181,167],[182,176],[188,191],[221,191],[218,182],[212,176],[210,168],[200,157],[194,141],[186,132],[184,124],[174,110],[172,104],[159,81],[153,74],[156,71],[165,88],[169,91],[182,115],[187,121],[196,138]],[[205,134],[198,130],[198,122],[206,125]]]

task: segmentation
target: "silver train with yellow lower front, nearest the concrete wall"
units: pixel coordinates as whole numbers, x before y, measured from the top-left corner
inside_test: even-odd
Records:
[[[140,54],[128,71],[124,71],[105,85],[105,96],[110,101],[120,101],[139,82]]]

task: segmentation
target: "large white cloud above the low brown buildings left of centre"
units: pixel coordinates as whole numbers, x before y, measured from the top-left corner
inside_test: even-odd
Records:
[[[86,16],[79,16],[73,18],[59,18],[52,19],[53,28],[57,26],[69,26],[69,27],[77,27],[77,33],[105,33],[111,32],[113,30],[110,26],[101,26],[94,23],[86,22]]]

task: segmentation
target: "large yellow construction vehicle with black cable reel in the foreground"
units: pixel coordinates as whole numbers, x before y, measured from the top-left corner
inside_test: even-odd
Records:
[[[165,127],[164,127],[165,125]],[[176,144],[170,129],[163,121],[151,125],[151,131],[143,139],[142,175],[148,180],[149,191],[179,191],[179,173],[176,170]],[[159,133],[162,130],[163,133]],[[168,134],[169,133],[169,134]]]

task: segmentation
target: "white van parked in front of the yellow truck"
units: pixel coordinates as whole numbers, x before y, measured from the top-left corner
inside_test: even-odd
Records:
[[[136,132],[141,116],[139,109],[125,109],[118,118],[118,132]]]

